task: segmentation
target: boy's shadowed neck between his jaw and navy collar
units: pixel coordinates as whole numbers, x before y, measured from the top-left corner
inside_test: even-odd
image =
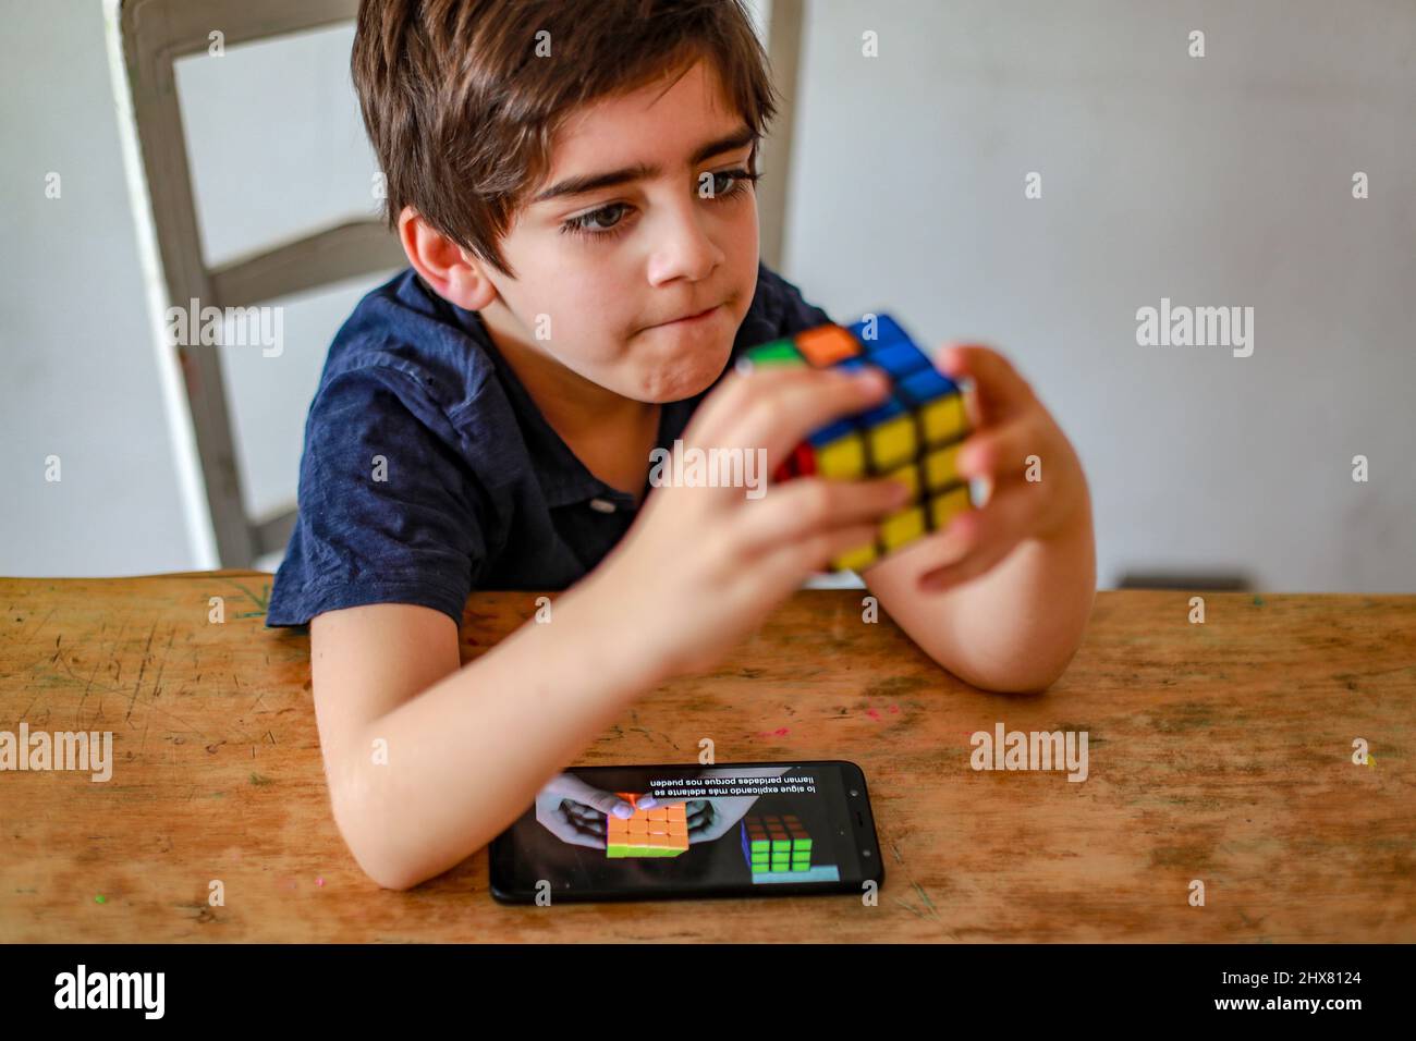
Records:
[[[660,405],[586,380],[501,327],[496,305],[480,312],[497,351],[571,450],[596,477],[639,499],[658,443]]]

